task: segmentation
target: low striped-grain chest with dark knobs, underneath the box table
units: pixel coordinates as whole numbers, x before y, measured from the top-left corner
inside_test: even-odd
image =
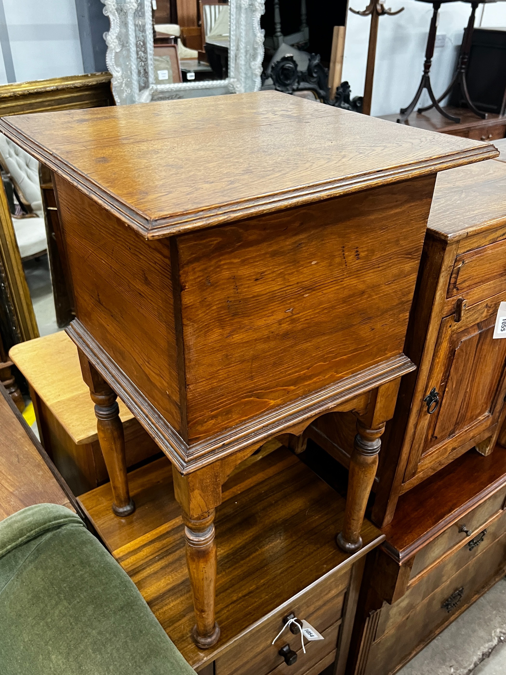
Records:
[[[269,445],[269,444],[268,444]],[[365,554],[383,541],[367,520],[364,546],[349,556],[335,545],[345,500],[287,448],[262,449],[222,487],[216,509],[219,641],[199,649],[191,638],[192,589],[185,566],[184,522],[163,457],[129,474],[136,511],[117,518],[111,485],[80,504],[186,660],[200,674],[318,675],[335,663],[345,671]],[[295,628],[278,636],[293,614],[322,641],[305,644]],[[277,637],[277,639],[275,639]],[[213,670],[215,668],[215,670]]]

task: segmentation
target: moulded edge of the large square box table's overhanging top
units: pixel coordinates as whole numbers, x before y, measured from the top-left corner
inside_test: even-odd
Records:
[[[322,199],[329,199],[352,192],[360,192],[375,188],[383,184],[391,184],[418,178],[430,173],[438,173],[446,169],[453,169],[465,164],[472,164],[485,159],[499,156],[499,151],[493,144],[482,143],[468,150],[457,151],[424,161],[407,162],[386,171],[375,170],[351,177],[329,180],[317,184],[263,194],[254,198],[227,202],[222,205],[212,205],[200,211],[187,211],[175,215],[150,219],[146,214],[125,204],[115,195],[106,192],[87,176],[82,175],[76,167],[72,167],[61,157],[51,153],[44,146],[28,138],[26,134],[16,128],[11,118],[0,118],[0,130],[22,147],[27,153],[47,165],[56,173],[68,180],[76,188],[82,190],[102,207],[113,213],[127,225],[130,225],[146,239],[159,239],[197,229],[223,225],[232,221],[246,219],[269,213],[282,211],[304,204],[310,204]]]

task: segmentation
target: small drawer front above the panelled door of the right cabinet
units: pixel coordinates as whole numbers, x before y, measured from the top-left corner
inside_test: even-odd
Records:
[[[506,275],[506,240],[462,253],[455,258],[447,298],[463,296],[476,286]]]

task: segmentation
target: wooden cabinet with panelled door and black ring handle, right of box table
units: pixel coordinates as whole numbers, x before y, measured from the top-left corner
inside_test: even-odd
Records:
[[[439,174],[428,219],[401,381],[387,425],[372,520],[388,524],[399,495],[464,452],[497,443],[506,407],[506,340],[493,339],[506,300],[506,165],[491,160]],[[311,437],[341,463],[349,416],[329,414]]]

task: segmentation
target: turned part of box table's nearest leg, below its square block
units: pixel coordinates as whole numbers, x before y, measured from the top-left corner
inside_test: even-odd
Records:
[[[220,628],[215,620],[217,557],[214,519],[214,509],[200,520],[183,514],[186,564],[196,619],[192,638],[200,649],[212,647],[220,637]]]

